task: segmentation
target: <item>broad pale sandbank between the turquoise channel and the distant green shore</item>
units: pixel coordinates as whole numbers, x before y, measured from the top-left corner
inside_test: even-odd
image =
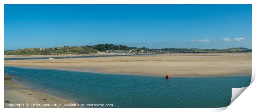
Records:
[[[12,60],[5,61],[5,66],[154,76],[251,75],[251,58],[251,53],[175,53],[152,56]]]

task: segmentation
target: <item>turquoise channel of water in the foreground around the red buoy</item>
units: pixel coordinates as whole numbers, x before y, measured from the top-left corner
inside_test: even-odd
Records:
[[[15,82],[78,103],[113,107],[225,107],[231,88],[246,87],[250,75],[220,77],[163,77],[116,75],[5,66]]]

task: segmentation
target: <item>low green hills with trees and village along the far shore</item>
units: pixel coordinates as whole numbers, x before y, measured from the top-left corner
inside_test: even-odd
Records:
[[[98,52],[109,53],[250,53],[247,48],[228,49],[198,49],[198,48],[137,48],[123,45],[98,44],[94,46],[64,46],[56,48],[26,48],[6,50],[5,55],[60,55],[60,54],[88,54]]]

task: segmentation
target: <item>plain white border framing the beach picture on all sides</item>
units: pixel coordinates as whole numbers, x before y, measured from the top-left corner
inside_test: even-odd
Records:
[[[2,59],[2,63],[0,64],[1,68],[4,68],[4,4],[252,4],[252,37],[255,37],[255,20],[256,20],[256,0],[0,0],[0,50]],[[253,82],[255,78],[255,38],[252,38],[252,80]],[[1,73],[4,74],[3,69],[1,69]],[[0,90],[4,89],[4,81],[2,78]],[[1,91],[1,100],[0,105],[2,108],[4,107],[4,92]],[[249,96],[250,97],[250,96]],[[255,97],[255,96],[251,96]],[[255,102],[255,101],[254,101]],[[241,103],[242,104],[242,103]],[[45,111],[62,111],[62,112],[70,112],[70,111],[90,111],[90,112],[98,112],[98,111],[161,111],[161,112],[170,112],[170,111],[186,111],[186,112],[209,112],[209,111],[220,111],[224,110],[223,108],[4,108],[4,111],[19,111],[19,112],[45,112]],[[237,107],[240,108],[240,107]]]

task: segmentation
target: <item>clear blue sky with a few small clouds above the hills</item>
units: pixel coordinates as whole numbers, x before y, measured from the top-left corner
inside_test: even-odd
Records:
[[[5,50],[251,48],[251,5],[5,5]]]

